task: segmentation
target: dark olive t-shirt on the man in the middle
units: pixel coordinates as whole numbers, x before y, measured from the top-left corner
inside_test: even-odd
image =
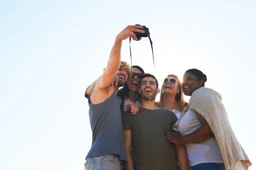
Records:
[[[180,170],[175,145],[166,139],[176,121],[175,113],[164,109],[122,113],[123,130],[131,130],[134,170]]]

